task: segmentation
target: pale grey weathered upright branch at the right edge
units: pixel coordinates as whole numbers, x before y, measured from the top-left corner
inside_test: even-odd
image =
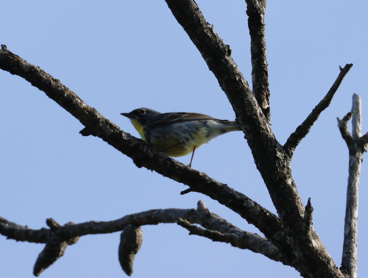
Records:
[[[347,129],[347,122],[353,116],[353,135]],[[358,244],[358,190],[362,157],[368,145],[367,136],[362,135],[361,101],[357,94],[353,95],[351,112],[338,119],[339,129],[349,149],[349,176],[346,193],[346,213],[344,227],[344,244],[341,271],[349,278],[357,277],[357,244]]]

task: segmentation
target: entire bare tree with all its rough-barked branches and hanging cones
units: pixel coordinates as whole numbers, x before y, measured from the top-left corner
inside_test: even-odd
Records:
[[[0,218],[0,233],[10,239],[45,244],[36,261],[36,276],[63,256],[70,244],[80,236],[123,231],[119,247],[123,270],[131,275],[135,254],[142,244],[142,225],[177,223],[191,234],[214,241],[227,242],[241,249],[249,249],[290,265],[303,277],[356,277],[357,275],[357,210],[358,185],[362,154],[367,147],[367,134],[361,136],[360,99],[354,95],[353,108],[342,120],[339,129],[349,149],[349,177],[342,267],[339,268],[327,252],[312,225],[312,202],[301,201],[291,175],[294,150],[307,136],[319,115],[332,101],[343,78],[352,64],[340,67],[340,72],[326,96],[308,117],[290,135],[284,145],[277,141],[270,126],[268,64],[266,59],[265,10],[266,1],[247,0],[248,27],[251,37],[252,85],[231,57],[213,26],[206,21],[193,0],[166,0],[174,17],[198,48],[208,68],[217,78],[237,115],[245,138],[269,191],[277,215],[266,210],[244,194],[226,184],[217,182],[205,173],[191,169],[145,144],[144,141],[120,130],[114,123],[91,108],[60,80],[38,66],[32,65],[10,52],[6,46],[0,50],[0,68],[19,75],[57,102],[77,118],[85,128],[83,136],[96,136],[127,155],[137,167],[145,167],[177,182],[189,186],[190,191],[205,194],[233,210],[247,222],[256,226],[265,237],[242,231],[225,219],[210,212],[203,202],[197,209],[150,210],[109,221],[89,221],[80,224],[59,225],[47,220],[48,229],[32,230]],[[347,122],[353,116],[353,135]],[[200,225],[200,226],[198,226]]]

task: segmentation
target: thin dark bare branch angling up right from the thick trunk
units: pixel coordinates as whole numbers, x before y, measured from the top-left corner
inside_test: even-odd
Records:
[[[346,64],[344,68],[340,67],[340,73],[325,97],[316,105],[316,107],[308,115],[307,119],[305,119],[304,122],[302,122],[300,126],[298,126],[297,129],[290,134],[289,138],[287,138],[287,141],[284,144],[284,150],[290,156],[290,158],[293,156],[295,148],[297,145],[299,145],[300,141],[307,136],[312,128],[312,125],[316,122],[322,111],[328,108],[333,96],[352,66],[353,64]]]

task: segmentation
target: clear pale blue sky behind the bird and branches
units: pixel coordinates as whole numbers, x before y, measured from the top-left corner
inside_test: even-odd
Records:
[[[229,44],[251,84],[245,1],[196,0]],[[266,12],[272,129],[283,144],[323,98],[339,74],[354,66],[311,132],[296,149],[293,178],[304,203],[312,198],[314,227],[340,266],[348,151],[336,117],[362,98],[367,129],[368,4],[270,1]],[[119,115],[142,106],[160,112],[198,112],[233,119],[217,80],[164,1],[5,1],[0,43],[58,78],[103,116],[134,136]],[[153,208],[208,208],[251,232],[234,212],[147,169],[95,137],[22,78],[0,71],[1,216],[30,228],[46,218],[108,221]],[[190,156],[178,158],[188,164]],[[227,183],[275,212],[241,132],[225,134],[195,153],[192,167]],[[367,163],[362,164],[358,274],[367,273]],[[144,226],[133,277],[299,277],[291,267],[249,250],[189,236],[174,224]],[[117,258],[119,233],[85,236],[41,277],[124,277]],[[41,244],[0,237],[4,277],[32,277]]]

